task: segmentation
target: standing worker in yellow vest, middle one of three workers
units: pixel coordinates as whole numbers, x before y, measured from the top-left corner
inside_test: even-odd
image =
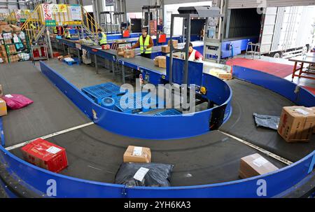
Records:
[[[146,28],[141,29],[142,35],[139,37],[139,40],[136,44],[132,45],[132,48],[140,47],[140,53],[142,57],[151,59],[151,52],[153,47],[153,40],[151,36],[148,35]]]

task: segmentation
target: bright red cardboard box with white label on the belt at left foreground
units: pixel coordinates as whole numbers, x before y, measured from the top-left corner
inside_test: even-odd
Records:
[[[21,148],[25,160],[37,167],[58,173],[68,166],[66,150],[43,139],[36,139]]]

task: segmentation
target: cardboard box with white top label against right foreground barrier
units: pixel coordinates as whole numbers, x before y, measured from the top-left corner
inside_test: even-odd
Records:
[[[278,168],[264,157],[255,153],[241,158],[239,165],[239,176],[241,178],[251,178],[262,174],[276,171]]]

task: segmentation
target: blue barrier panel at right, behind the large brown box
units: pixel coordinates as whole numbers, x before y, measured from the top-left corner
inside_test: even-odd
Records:
[[[233,66],[233,76],[272,90],[290,99],[290,101],[293,101],[297,105],[307,107],[315,106],[314,94],[311,94],[311,92],[305,90],[303,87],[297,86],[289,80],[241,66]]]

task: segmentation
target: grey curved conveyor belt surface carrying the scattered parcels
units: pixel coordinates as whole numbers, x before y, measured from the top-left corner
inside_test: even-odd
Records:
[[[23,64],[23,69],[19,64]],[[4,67],[0,71],[0,84],[4,92],[25,94],[34,100],[34,104],[27,108],[10,111],[3,116],[7,147],[90,122],[31,63],[15,63]],[[292,162],[314,150],[314,141],[290,144],[283,141],[275,131],[255,127],[253,113],[279,115],[283,106],[293,105],[291,101],[241,80],[230,80],[228,83],[233,90],[233,112],[221,131],[250,141]],[[154,141],[124,137],[107,132],[97,125],[90,125],[47,140],[66,148],[69,167],[61,174],[106,183],[113,183],[123,162],[123,153],[129,145],[151,148],[153,162],[174,164],[172,186],[237,180],[239,159],[258,153],[219,131],[190,139]],[[11,152],[22,158],[19,148]],[[267,159],[276,167],[286,166],[271,157]]]

